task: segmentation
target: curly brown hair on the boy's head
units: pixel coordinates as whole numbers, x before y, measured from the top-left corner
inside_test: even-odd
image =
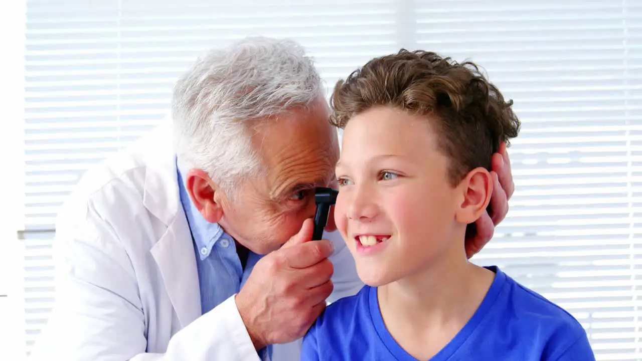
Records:
[[[344,128],[365,110],[390,106],[413,114],[433,115],[438,147],[451,160],[453,186],[477,167],[490,171],[499,144],[510,145],[520,122],[499,90],[473,62],[457,62],[428,51],[408,51],[374,58],[339,80],[331,98],[331,123]]]

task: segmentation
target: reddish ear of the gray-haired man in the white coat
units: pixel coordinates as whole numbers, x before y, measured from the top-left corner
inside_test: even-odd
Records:
[[[185,186],[189,198],[200,214],[210,223],[218,223],[223,217],[221,205],[224,197],[221,189],[203,170],[193,168],[187,172]]]

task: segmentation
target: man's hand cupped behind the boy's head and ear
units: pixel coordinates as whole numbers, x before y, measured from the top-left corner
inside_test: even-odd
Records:
[[[510,159],[506,150],[506,143],[501,143],[499,151],[492,155],[491,172],[493,179],[490,209],[492,214],[483,213],[475,222],[476,233],[465,240],[466,256],[473,257],[490,241],[495,232],[495,226],[501,222],[508,213],[508,199],[515,190],[513,175],[510,171]]]

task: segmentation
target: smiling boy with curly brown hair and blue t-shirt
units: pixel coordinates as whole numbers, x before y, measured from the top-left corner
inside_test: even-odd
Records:
[[[331,304],[302,360],[594,360],[569,313],[464,251],[519,120],[470,63],[376,58],[339,82],[334,219],[366,286]]]

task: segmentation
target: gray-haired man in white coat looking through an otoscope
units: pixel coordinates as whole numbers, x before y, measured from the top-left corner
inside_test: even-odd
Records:
[[[323,94],[294,42],[196,61],[171,121],[87,172],[60,212],[56,304],[32,359],[298,360],[326,299],[362,286],[332,219],[309,242],[313,188],[333,184],[339,152]],[[500,153],[471,256],[507,212]]]

